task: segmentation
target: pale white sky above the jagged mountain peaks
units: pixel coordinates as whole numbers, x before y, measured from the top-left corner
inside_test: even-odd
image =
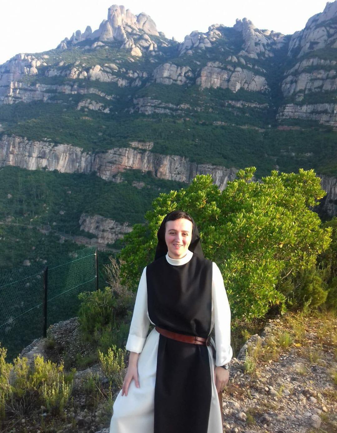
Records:
[[[124,3],[123,3],[124,2]],[[183,41],[193,30],[206,32],[211,24],[233,26],[247,17],[259,29],[292,34],[308,19],[322,12],[326,0],[123,0],[137,15],[145,12],[158,31]],[[66,36],[87,26],[96,30],[107,18],[112,0],[16,0],[0,1],[0,65],[20,52],[35,53],[56,48]]]

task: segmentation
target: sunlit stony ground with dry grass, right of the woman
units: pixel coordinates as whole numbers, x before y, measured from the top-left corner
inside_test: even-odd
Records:
[[[225,432],[337,432],[336,325],[276,319],[252,336],[231,363]]]

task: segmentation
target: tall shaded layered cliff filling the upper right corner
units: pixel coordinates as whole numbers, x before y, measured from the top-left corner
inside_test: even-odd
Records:
[[[279,108],[278,119],[317,120],[336,127],[337,90],[337,2],[312,16],[305,28],[289,42],[292,68],[285,72],[282,93],[291,103]],[[306,99],[310,98],[310,103]],[[290,102],[289,101],[289,102]]]

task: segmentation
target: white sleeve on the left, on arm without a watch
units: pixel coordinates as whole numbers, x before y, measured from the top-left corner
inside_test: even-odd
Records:
[[[135,307],[130,325],[128,341],[125,349],[130,352],[141,353],[148,334],[150,320],[147,316],[148,312],[148,288],[146,284],[146,266],[141,274],[141,279],[138,284]]]

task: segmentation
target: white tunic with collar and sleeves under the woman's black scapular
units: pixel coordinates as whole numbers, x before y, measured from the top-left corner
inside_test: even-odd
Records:
[[[187,250],[182,259],[171,259],[166,254],[171,265],[184,265],[192,258],[193,252]],[[135,307],[126,349],[140,353],[138,357],[139,388],[132,380],[128,395],[122,396],[122,390],[113,405],[113,416],[110,423],[110,433],[152,433],[154,431],[154,386],[156,382],[157,350],[160,334],[153,329],[148,337],[151,322],[148,315],[148,291],[146,283],[146,267],[138,285]],[[222,433],[222,414],[218,394],[215,387],[215,365],[227,364],[233,355],[231,348],[231,311],[225,291],[223,278],[218,266],[212,267],[212,318],[211,333],[215,328],[216,359],[214,363],[212,348],[208,346],[209,364],[212,378],[212,400],[209,413],[207,433]],[[214,345],[213,339],[211,339]]]

